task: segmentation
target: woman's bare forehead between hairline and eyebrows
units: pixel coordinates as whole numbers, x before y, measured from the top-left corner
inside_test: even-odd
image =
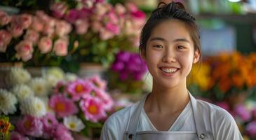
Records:
[[[173,41],[177,38],[186,38],[191,42],[191,36],[184,22],[179,20],[166,20],[154,27],[150,38],[161,37],[168,41]]]

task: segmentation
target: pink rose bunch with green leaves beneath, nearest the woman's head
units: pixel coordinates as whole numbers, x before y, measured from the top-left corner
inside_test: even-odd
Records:
[[[56,2],[50,7],[56,18],[67,20],[74,26],[74,38],[79,41],[74,59],[109,66],[120,49],[135,50],[145,14],[133,3],[104,0],[83,0],[73,4]]]

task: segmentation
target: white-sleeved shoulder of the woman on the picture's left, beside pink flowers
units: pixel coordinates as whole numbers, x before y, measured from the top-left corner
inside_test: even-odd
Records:
[[[101,139],[123,139],[123,134],[130,123],[130,117],[137,106],[138,103],[133,104],[109,116],[102,128]]]

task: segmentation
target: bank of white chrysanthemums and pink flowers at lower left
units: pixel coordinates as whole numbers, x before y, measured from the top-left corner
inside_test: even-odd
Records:
[[[12,68],[7,77],[13,87],[0,89],[0,114],[15,121],[11,139],[92,137],[114,106],[99,76],[81,79],[49,68],[43,77],[32,78],[26,69]]]

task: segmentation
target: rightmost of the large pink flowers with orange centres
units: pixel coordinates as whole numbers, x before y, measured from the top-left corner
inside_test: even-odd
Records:
[[[79,102],[79,106],[86,117],[86,120],[90,120],[97,123],[98,120],[107,117],[105,113],[104,104],[96,97],[86,96]]]

